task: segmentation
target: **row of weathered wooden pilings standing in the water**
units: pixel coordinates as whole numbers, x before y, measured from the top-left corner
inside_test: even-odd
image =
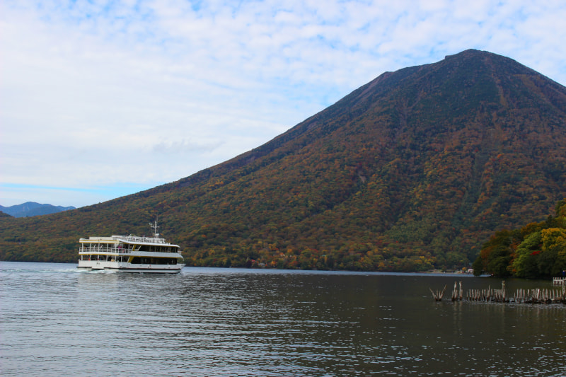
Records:
[[[442,301],[446,286],[442,291],[432,291],[434,301]],[[469,289],[466,294],[463,292],[462,282],[458,284],[454,282],[452,290],[452,301],[485,301],[499,303],[563,303],[566,305],[566,286],[559,289],[517,289],[513,296],[507,295],[505,282],[501,282],[501,289]]]

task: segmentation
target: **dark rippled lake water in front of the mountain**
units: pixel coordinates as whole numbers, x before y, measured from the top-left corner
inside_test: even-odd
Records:
[[[2,376],[566,375],[566,305],[429,292],[498,279],[75,267],[0,262]],[[517,287],[552,285],[507,281]]]

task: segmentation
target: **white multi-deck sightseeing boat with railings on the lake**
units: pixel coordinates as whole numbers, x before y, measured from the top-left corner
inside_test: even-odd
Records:
[[[185,266],[180,246],[159,238],[157,221],[149,224],[154,237],[81,238],[79,269],[175,274]]]

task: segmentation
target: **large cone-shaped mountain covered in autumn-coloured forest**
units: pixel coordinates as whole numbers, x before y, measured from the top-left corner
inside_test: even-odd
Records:
[[[0,258],[76,260],[79,237],[161,233],[188,265],[466,267],[566,197],[566,88],[467,50],[387,72],[284,134],[176,182],[0,218]]]

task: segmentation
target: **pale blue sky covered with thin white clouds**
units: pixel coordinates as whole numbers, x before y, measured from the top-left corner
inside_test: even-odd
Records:
[[[566,85],[563,0],[0,1],[0,204],[83,207],[470,48]]]

